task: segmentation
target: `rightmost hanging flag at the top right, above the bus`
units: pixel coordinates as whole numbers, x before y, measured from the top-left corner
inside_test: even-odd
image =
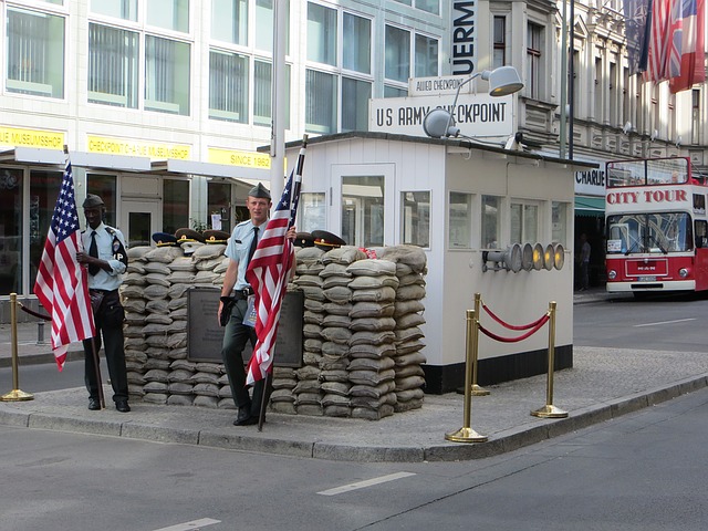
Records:
[[[669,81],[671,94],[706,81],[706,1],[675,0],[681,4],[680,73]]]

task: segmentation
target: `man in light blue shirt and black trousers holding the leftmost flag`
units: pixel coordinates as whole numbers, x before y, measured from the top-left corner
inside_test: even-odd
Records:
[[[97,354],[103,336],[108,376],[113,386],[113,402],[118,412],[127,413],[131,406],[123,340],[125,312],[118,295],[118,287],[123,282],[121,275],[128,264],[125,239],[119,230],[104,225],[105,206],[101,197],[88,194],[83,208],[87,229],[81,233],[84,251],[76,253],[76,260],[88,268],[88,294],[96,324],[96,335],[83,342],[88,409],[101,409],[94,347]],[[97,358],[97,355],[95,357]]]

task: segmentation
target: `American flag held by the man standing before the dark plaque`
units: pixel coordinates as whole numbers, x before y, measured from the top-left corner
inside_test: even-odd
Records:
[[[305,160],[306,143],[300,149],[298,164],[290,173],[283,195],[275,206],[266,232],[258,242],[246,271],[246,280],[256,293],[256,347],[248,364],[247,384],[263,379],[273,364],[273,346],[278,334],[280,306],[288,287],[288,273],[295,258],[292,241],[285,238],[295,225],[300,183]]]

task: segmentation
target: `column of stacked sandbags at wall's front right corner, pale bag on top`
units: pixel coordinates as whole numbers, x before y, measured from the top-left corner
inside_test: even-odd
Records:
[[[352,416],[377,420],[393,415],[396,404],[393,360],[396,264],[363,259],[346,270],[352,274],[348,288],[353,302],[347,365]]]

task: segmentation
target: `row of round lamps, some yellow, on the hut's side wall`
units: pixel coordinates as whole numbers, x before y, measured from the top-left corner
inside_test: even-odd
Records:
[[[491,262],[492,266],[488,266]],[[504,251],[482,251],[482,271],[541,271],[560,270],[565,262],[565,249],[560,243],[514,243]]]

